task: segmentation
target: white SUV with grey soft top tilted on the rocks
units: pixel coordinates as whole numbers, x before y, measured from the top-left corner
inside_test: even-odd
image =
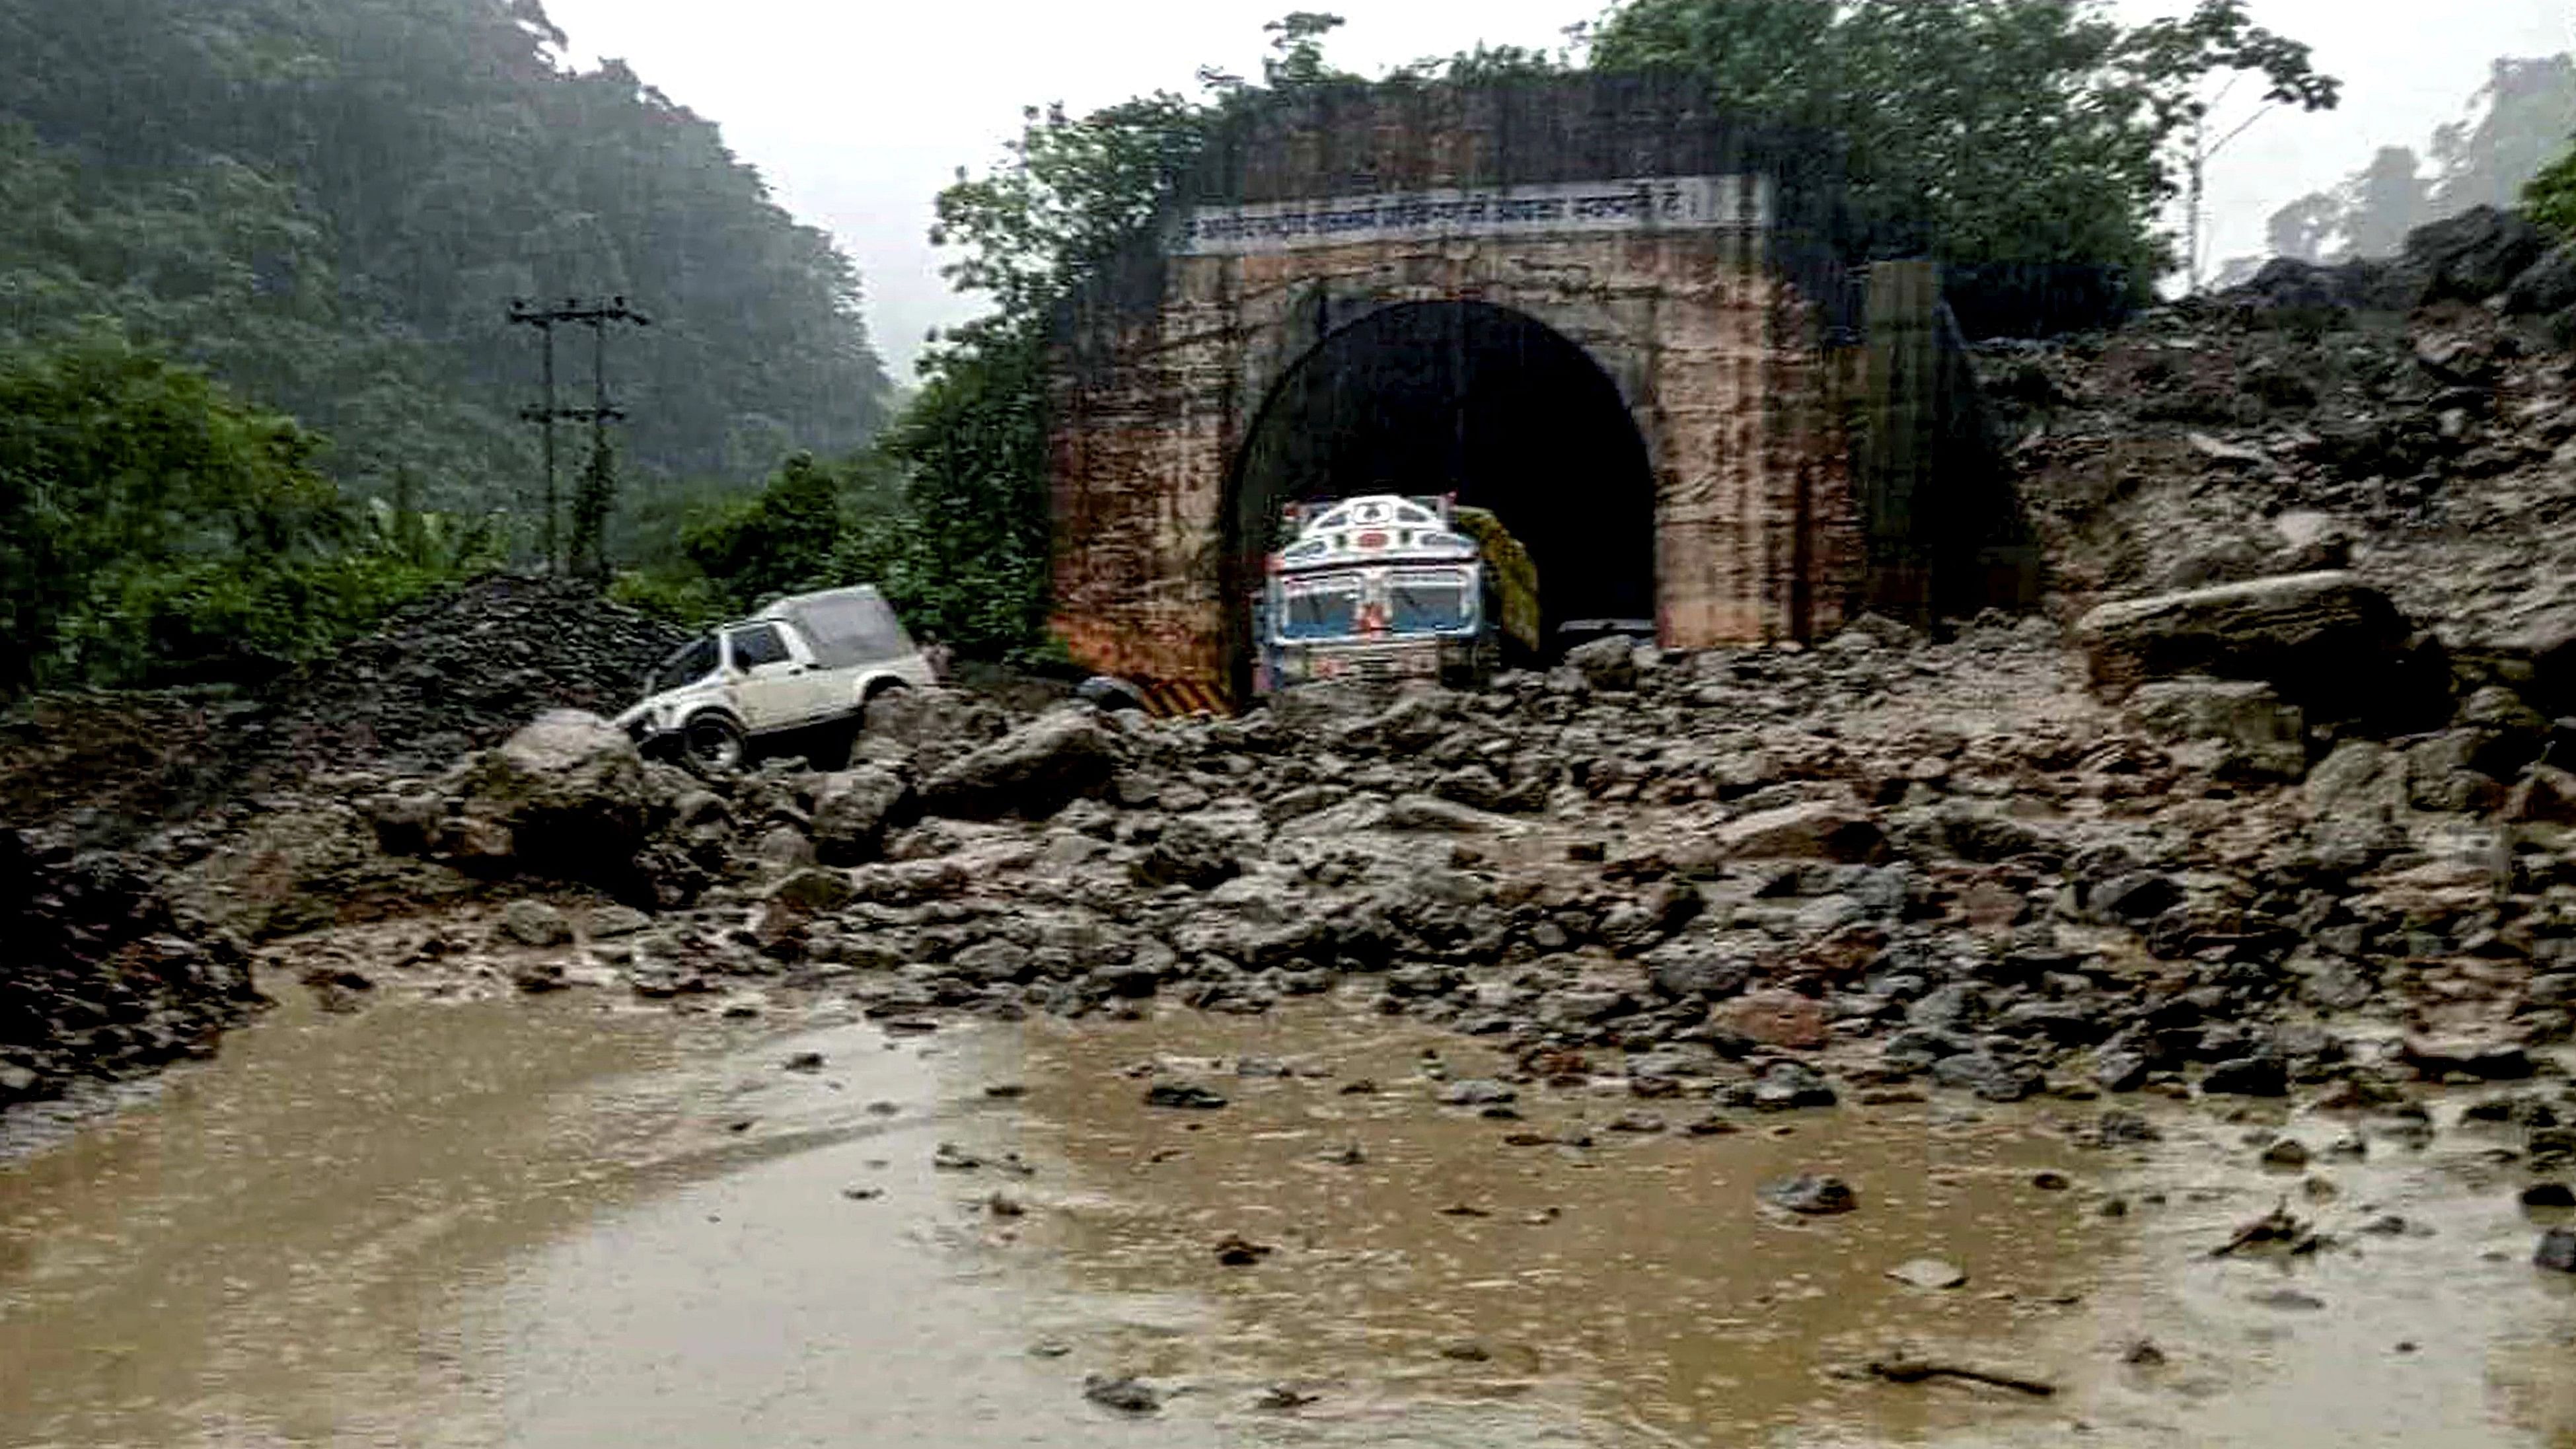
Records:
[[[837,763],[871,699],[933,683],[930,660],[881,593],[835,588],[781,598],[680,645],[618,727],[696,771],[729,771],[755,753]]]

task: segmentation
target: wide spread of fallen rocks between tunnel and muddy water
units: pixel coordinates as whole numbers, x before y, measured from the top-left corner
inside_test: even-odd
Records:
[[[2311,621],[2380,619],[2385,598],[2329,608],[2349,588],[2287,593]],[[2174,608],[2210,606],[2146,616]],[[2383,624],[2326,637],[2403,657],[2411,632]],[[1618,1052],[1641,1093],[1747,1109],[1829,1101],[1832,1078],[2375,1091],[2522,1075],[2568,1036],[2576,779],[2540,763],[2568,727],[2494,688],[2421,737],[2321,709],[2272,717],[2244,768],[2241,712],[2141,722],[2087,673],[2280,655],[2123,655],[2133,637],[2097,621],[2092,665],[2035,619],[1950,642],[1865,621],[1814,652],[1605,642],[1476,696],[1309,688],[1239,722],[1066,706],[979,748],[997,722],[925,694],[850,771],[716,786],[564,717],[502,750],[554,761],[544,789],[495,794],[484,758],[366,810],[389,846],[466,859],[495,822],[523,830],[515,802],[600,781],[616,828],[541,830],[513,869],[629,871],[659,918],[587,967],[641,995],[1265,1011],[1365,980],[1388,1013],[1533,1060]],[[2295,688],[2269,676],[2136,694]]]

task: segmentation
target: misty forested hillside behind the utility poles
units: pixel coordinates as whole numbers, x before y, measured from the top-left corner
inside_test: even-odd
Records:
[[[355,492],[479,513],[536,469],[507,299],[626,294],[657,322],[611,353],[631,503],[860,446],[891,387],[858,273],[711,121],[562,44],[538,0],[0,0],[0,348],[121,327]]]

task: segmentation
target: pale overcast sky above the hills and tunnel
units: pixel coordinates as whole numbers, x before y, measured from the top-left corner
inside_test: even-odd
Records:
[[[1108,106],[1190,90],[1200,64],[1260,75],[1262,23],[1296,8],[1350,23],[1329,57],[1376,75],[1471,44],[1553,49],[1592,0],[546,0],[574,59],[623,57],[719,121],[801,219],[858,260],[868,325],[909,379],[922,333],[981,307],[940,281],[930,199],[984,168],[1020,108]],[[2184,0],[2117,0],[2128,18]],[[2257,21],[2311,41],[2344,80],[2324,116],[2257,124],[2210,175],[2213,258],[2262,248],[2275,206],[2331,186],[2380,144],[2424,147],[2486,83],[2488,59],[2576,49],[2568,0],[2251,0]]]

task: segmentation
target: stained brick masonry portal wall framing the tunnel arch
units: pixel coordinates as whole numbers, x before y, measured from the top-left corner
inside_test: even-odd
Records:
[[[1656,472],[1664,645],[1834,627],[1860,562],[1834,371],[1806,304],[1741,253],[1674,235],[1172,258],[1159,309],[1059,366],[1056,632],[1108,673],[1224,681],[1234,454],[1316,315],[1401,302],[1522,312],[1618,384]]]

